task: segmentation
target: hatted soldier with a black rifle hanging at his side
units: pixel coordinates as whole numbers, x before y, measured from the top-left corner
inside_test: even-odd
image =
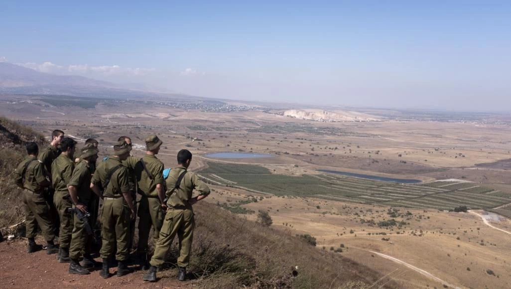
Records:
[[[94,144],[88,143],[85,144],[81,152],[80,163],[76,165],[73,176],[67,184],[67,189],[75,208],[85,214],[89,208],[94,206],[93,202],[95,202],[95,199],[92,198],[95,194],[90,189],[90,180],[94,172],[91,164],[95,164],[98,159],[98,149]],[[71,264],[69,264],[68,272],[71,274],[86,275],[89,274],[87,269],[101,266],[100,262],[90,256],[92,235],[86,233],[84,226],[84,222],[75,216],[71,247],[69,247]],[[80,258],[82,250],[84,251],[83,263],[80,265],[78,258]]]

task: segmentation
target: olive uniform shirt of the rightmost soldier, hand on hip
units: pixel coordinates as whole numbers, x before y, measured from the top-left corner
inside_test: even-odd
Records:
[[[174,189],[176,186],[177,179],[181,173],[185,173],[179,185],[179,189]],[[189,199],[192,198],[193,190],[197,190],[199,195],[210,194],[210,187],[202,182],[199,177],[184,168],[177,167],[170,170],[169,177],[166,181],[167,185],[167,205],[170,207],[187,207],[192,209],[192,206],[188,204]],[[172,194],[171,194],[172,193]],[[171,194],[169,196],[169,194]]]

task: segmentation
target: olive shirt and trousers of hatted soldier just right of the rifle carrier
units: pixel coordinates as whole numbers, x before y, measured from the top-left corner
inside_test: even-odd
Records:
[[[119,168],[111,174],[110,182],[104,188],[103,186],[109,173],[117,166]],[[100,251],[101,258],[107,259],[110,254],[114,253],[114,242],[117,241],[115,259],[125,261],[129,255],[128,243],[131,212],[123,197],[123,192],[133,190],[128,168],[118,158],[111,156],[98,165],[96,172],[92,176],[92,183],[104,189],[103,211],[101,214],[101,223],[103,225],[101,230],[103,237],[103,246]]]

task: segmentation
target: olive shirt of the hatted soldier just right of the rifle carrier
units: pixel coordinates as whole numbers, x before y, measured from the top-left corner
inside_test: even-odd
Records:
[[[106,188],[103,187],[108,174],[117,166],[119,166],[119,168],[111,174],[110,182],[107,184]],[[92,183],[94,183],[95,186],[103,188],[103,196],[105,197],[119,197],[122,196],[123,192],[133,190],[133,183],[130,181],[128,168],[124,166],[118,158],[113,156],[108,157],[106,161],[98,165],[92,176]]]

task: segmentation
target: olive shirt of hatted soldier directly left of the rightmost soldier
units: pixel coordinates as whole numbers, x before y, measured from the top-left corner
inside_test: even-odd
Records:
[[[152,175],[152,179],[144,169],[142,161],[144,161],[147,170]],[[143,196],[157,197],[158,191],[156,191],[156,185],[164,184],[163,170],[164,164],[158,160],[154,154],[146,154],[142,160],[138,160],[135,165],[135,176],[138,185],[138,193]]]

